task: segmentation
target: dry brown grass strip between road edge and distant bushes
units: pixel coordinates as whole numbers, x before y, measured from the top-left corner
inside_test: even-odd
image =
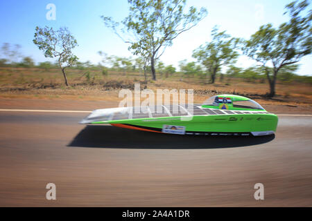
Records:
[[[103,76],[101,70],[70,69],[67,72],[71,86],[64,86],[62,74],[58,69],[41,68],[0,68],[0,97],[28,99],[83,99],[83,100],[120,100],[121,88],[133,90],[135,83],[144,88],[144,76],[140,73],[118,73],[109,71]],[[277,83],[277,96],[274,99],[264,97],[268,84],[246,82],[243,79],[217,79],[216,84],[207,84],[207,79],[181,78],[179,74],[157,81],[149,81],[148,88],[155,93],[157,89],[193,89],[194,102],[203,102],[207,97],[222,93],[236,93],[251,97],[261,104],[301,104],[312,103],[311,84]]]

